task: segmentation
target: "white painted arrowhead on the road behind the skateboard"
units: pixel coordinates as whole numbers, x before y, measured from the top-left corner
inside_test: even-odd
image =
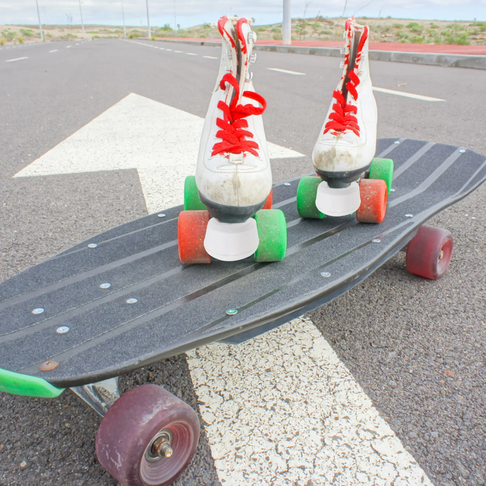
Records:
[[[184,178],[195,173],[203,121],[131,93],[14,177],[137,169],[149,213],[170,208],[182,204]],[[270,142],[268,151],[303,156]]]

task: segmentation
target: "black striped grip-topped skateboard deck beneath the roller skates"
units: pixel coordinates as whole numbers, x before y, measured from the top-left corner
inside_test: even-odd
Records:
[[[357,223],[355,215],[302,219],[299,179],[274,185],[273,207],[288,228],[282,261],[181,264],[178,206],[2,282],[0,368],[72,387],[210,342],[241,342],[352,288],[486,178],[485,156],[451,145],[380,139],[377,156],[395,163],[379,225]],[[58,365],[41,371],[47,360]]]

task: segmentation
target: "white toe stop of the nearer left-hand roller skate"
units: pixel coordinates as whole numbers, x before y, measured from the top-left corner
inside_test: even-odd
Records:
[[[260,243],[254,218],[244,223],[222,223],[211,218],[206,229],[204,247],[218,260],[235,261],[253,255]]]

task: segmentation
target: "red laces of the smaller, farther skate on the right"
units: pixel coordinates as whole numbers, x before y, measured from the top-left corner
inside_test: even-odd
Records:
[[[351,29],[352,26],[350,26],[349,28]],[[356,90],[356,88],[360,84],[360,78],[356,74],[355,70],[358,69],[359,62],[361,61],[361,55],[363,52],[364,43],[368,38],[368,32],[369,32],[368,27],[365,26],[363,34],[361,35],[360,38],[360,42],[358,44],[358,52],[356,54],[354,69],[347,73],[347,77],[349,78],[349,81],[346,83],[346,88],[348,93],[353,97],[354,101],[358,99],[358,91]],[[348,37],[351,38],[350,36]],[[348,55],[346,56],[345,59],[346,64],[347,62],[348,62]],[[332,105],[333,111],[329,115],[330,121],[326,123],[324,133],[333,130],[331,132],[332,135],[339,135],[340,133],[343,133],[346,130],[351,130],[359,137],[360,127],[358,125],[358,119],[353,115],[353,113],[356,114],[358,112],[358,108],[353,104],[346,103],[343,92],[341,90],[336,89],[332,93],[332,97],[336,100],[337,103],[334,103]]]

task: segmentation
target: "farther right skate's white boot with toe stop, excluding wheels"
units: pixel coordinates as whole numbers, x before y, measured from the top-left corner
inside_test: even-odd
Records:
[[[354,17],[347,19],[343,75],[312,151],[315,171],[323,179],[315,204],[330,216],[359,208],[356,181],[376,151],[378,112],[369,75],[368,33],[367,25],[357,24]]]

